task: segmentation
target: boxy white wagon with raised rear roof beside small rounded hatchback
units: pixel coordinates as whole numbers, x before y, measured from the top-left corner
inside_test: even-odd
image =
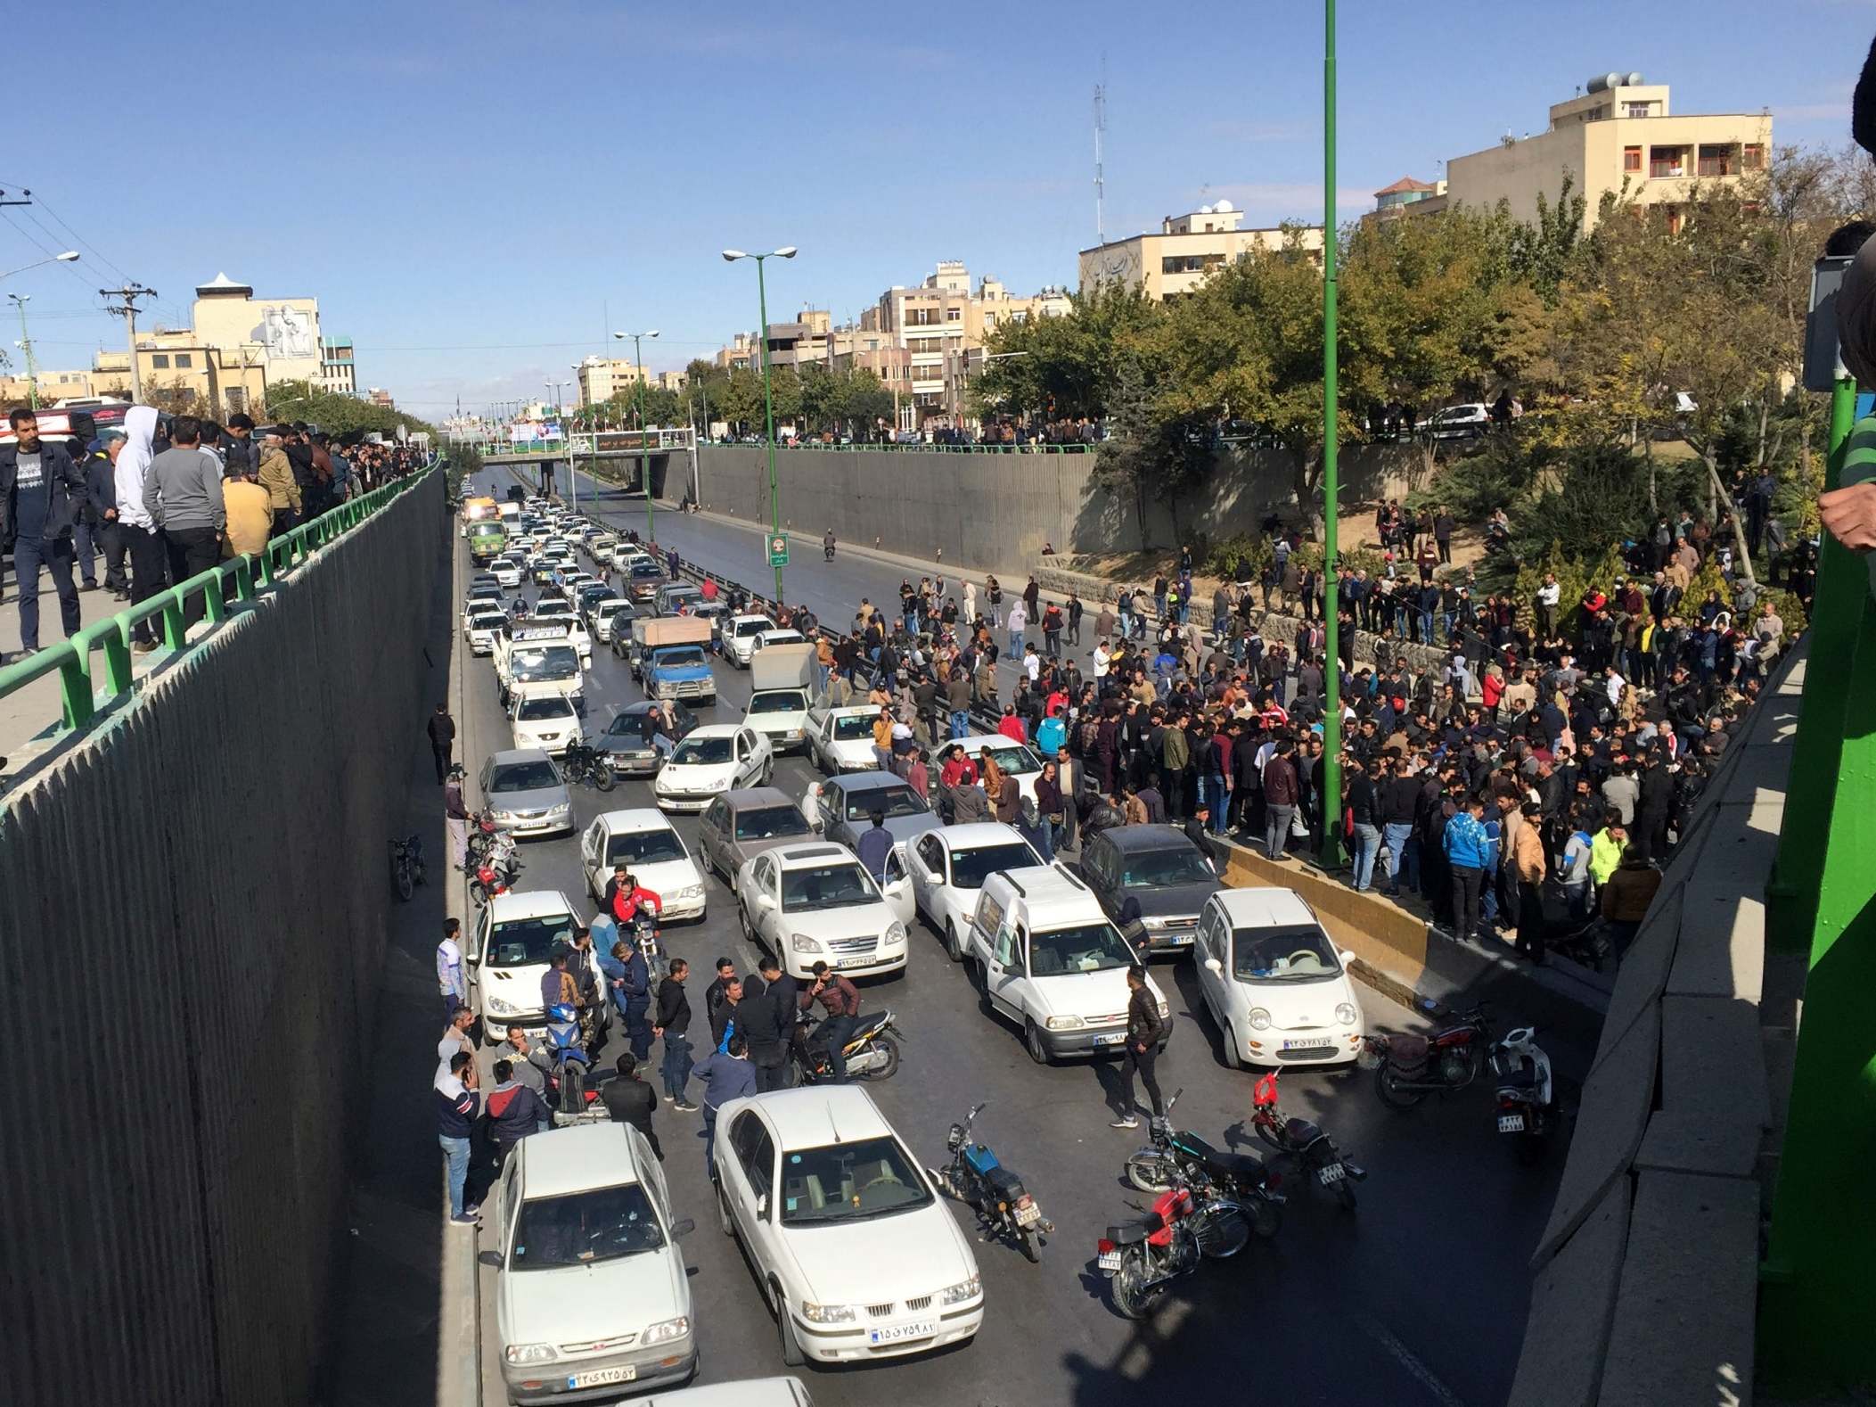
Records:
[[[992,1015],[1022,1030],[1030,1060],[1120,1054],[1127,1039],[1127,968],[1141,955],[1094,893],[1060,865],[998,870],[977,893],[966,961]],[[1169,1015],[1167,1000],[1146,989]]]

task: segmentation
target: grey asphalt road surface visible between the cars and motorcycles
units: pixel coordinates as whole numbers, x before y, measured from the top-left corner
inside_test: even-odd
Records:
[[[507,471],[482,480],[499,495]],[[582,478],[582,508],[643,531],[642,501]],[[658,544],[675,548],[745,585],[771,583],[762,535],[702,518],[658,512]],[[799,546],[799,544],[797,544]],[[458,552],[458,595],[469,565]],[[788,568],[788,598],[807,600],[827,625],[846,625],[861,595],[897,600],[902,570],[857,553]],[[533,587],[523,593],[533,597]],[[1086,645],[1094,642],[1088,640]],[[488,660],[467,662],[465,762],[471,779],[488,750],[510,747]],[[741,717],[747,675],[717,664],[715,720]],[[587,675],[587,728],[640,696],[625,666],[598,647]],[[700,711],[705,720],[711,709]],[[814,773],[807,762],[779,762],[775,782],[801,795]],[[612,809],[651,805],[651,788],[621,779],[610,795],[574,788],[583,827]],[[679,818],[687,842],[696,822]],[[563,889],[591,914],[576,839],[523,840],[523,889]],[[702,1019],[704,987],[719,955],[741,970],[756,953],[741,940],[735,908],[707,880],[709,912],[698,925],[664,930],[666,949],[692,962],[690,1000]],[[1253,1077],[1221,1064],[1219,1036],[1204,1015],[1189,961],[1159,964],[1156,979],[1172,1004],[1174,1036],[1159,1062],[1165,1090],[1184,1090],[1176,1122],[1214,1142],[1253,1146],[1240,1127],[1249,1114]],[[869,1086],[912,1152],[925,1163],[944,1157],[947,1126],[970,1103],[989,1101],[976,1131],[1028,1180],[1058,1234],[1032,1266],[1004,1246],[977,1246],[987,1317],[976,1341],[923,1358],[850,1369],[809,1366],[818,1403],[874,1403],[891,1394],[906,1403],[1094,1403],[1137,1401],[1142,1390],[1176,1394],[1255,1392],[1289,1403],[1373,1401],[1390,1407],[1491,1407],[1512,1381],[1529,1296],[1527,1257],[1542,1231],[1563,1146],[1544,1167],[1518,1167],[1493,1126],[1490,1090],[1475,1086],[1430,1099],[1399,1114],[1384,1109],[1371,1077],[1354,1071],[1294,1071],[1283,1077],[1285,1107],[1321,1122],[1349,1156],[1369,1169],[1360,1208],[1349,1216],[1293,1180],[1279,1234],[1253,1242],[1233,1261],[1208,1263],[1180,1281],[1141,1324],[1109,1306],[1094,1274],[1094,1242],[1103,1229],[1137,1214],[1142,1199],[1120,1176],[1141,1131],[1107,1127],[1109,1064],[1041,1067],[1024,1054],[1017,1032],[979,1015],[964,972],[953,966],[923,925],[912,932],[906,974],[863,983],[865,1009],[889,1007],[904,1030],[904,1064],[895,1079]],[[1418,1017],[1362,989],[1369,1030],[1413,1030]],[[1548,1013],[1497,1011],[1503,1024]],[[1561,1028],[1544,1036],[1565,1084],[1587,1067],[1595,1034]],[[621,1041],[602,1054],[610,1062]],[[653,1052],[657,1062],[657,1052]],[[651,1071],[653,1082],[657,1075]],[[692,1096],[696,1097],[696,1094]],[[668,1154],[677,1216],[698,1231],[683,1242],[696,1268],[690,1287],[702,1345],[700,1383],[782,1371],[773,1321],[734,1240],[717,1231],[704,1171],[696,1114],[662,1107],[657,1118]],[[1259,1146],[1261,1152],[1261,1146]],[[1276,1163],[1283,1167],[1281,1159]],[[957,1208],[968,1227],[968,1214]],[[492,1240],[482,1233],[482,1246]],[[484,1276],[484,1294],[492,1276]],[[493,1354],[493,1306],[484,1300],[486,1401],[503,1401]],[[880,1375],[885,1377],[880,1377]],[[1174,1394],[1171,1398],[1163,1394]]]

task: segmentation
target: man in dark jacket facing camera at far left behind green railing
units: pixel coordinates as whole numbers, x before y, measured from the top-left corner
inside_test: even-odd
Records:
[[[79,587],[71,580],[77,552],[71,531],[84,503],[84,473],[64,445],[39,439],[39,416],[9,416],[15,443],[0,446],[0,548],[13,553],[19,580],[21,653],[39,649],[39,568],[53,574],[58,615],[69,640],[79,632]],[[0,660],[4,662],[4,660]]]

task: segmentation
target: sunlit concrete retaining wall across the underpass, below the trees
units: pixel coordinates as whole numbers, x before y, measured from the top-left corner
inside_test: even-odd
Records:
[[[765,448],[709,445],[698,461],[704,508],[769,522]],[[777,450],[775,465],[784,527],[812,535],[831,527],[842,542],[878,538],[908,557],[994,572],[1032,561],[1043,544],[1062,553],[1127,553],[1193,535],[1255,533],[1272,510],[1296,514],[1291,458],[1278,450],[1219,454],[1206,484],[1176,505],[1148,497],[1144,518],[1131,493],[1094,482],[1094,454]],[[1430,467],[1418,445],[1351,446],[1341,460],[1343,503],[1399,497]],[[621,473],[636,475],[636,467]]]

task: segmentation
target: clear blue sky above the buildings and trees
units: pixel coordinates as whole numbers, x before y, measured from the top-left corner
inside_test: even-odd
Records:
[[[51,212],[0,210],[0,270],[66,248],[60,221],[86,242],[84,263],[8,285],[32,295],[43,366],[120,345],[96,298],[118,270],[173,325],[219,270],[261,296],[315,295],[325,332],[356,343],[360,386],[431,416],[568,381],[610,328],[660,328],[658,368],[707,356],[756,319],[754,268],[724,246],[801,248],[771,266],[771,319],[857,315],[938,259],[1015,293],[1073,283],[1094,244],[1103,56],[1111,238],[1219,197],[1249,223],[1321,218],[1309,0],[148,15],[75,6],[92,36],[146,36],[141,81],[107,64],[9,124],[24,141],[0,186]],[[1615,68],[1672,83],[1677,111],[1771,107],[1778,143],[1837,144],[1872,30],[1876,0],[1343,0],[1343,216],[1540,129],[1548,103]]]

